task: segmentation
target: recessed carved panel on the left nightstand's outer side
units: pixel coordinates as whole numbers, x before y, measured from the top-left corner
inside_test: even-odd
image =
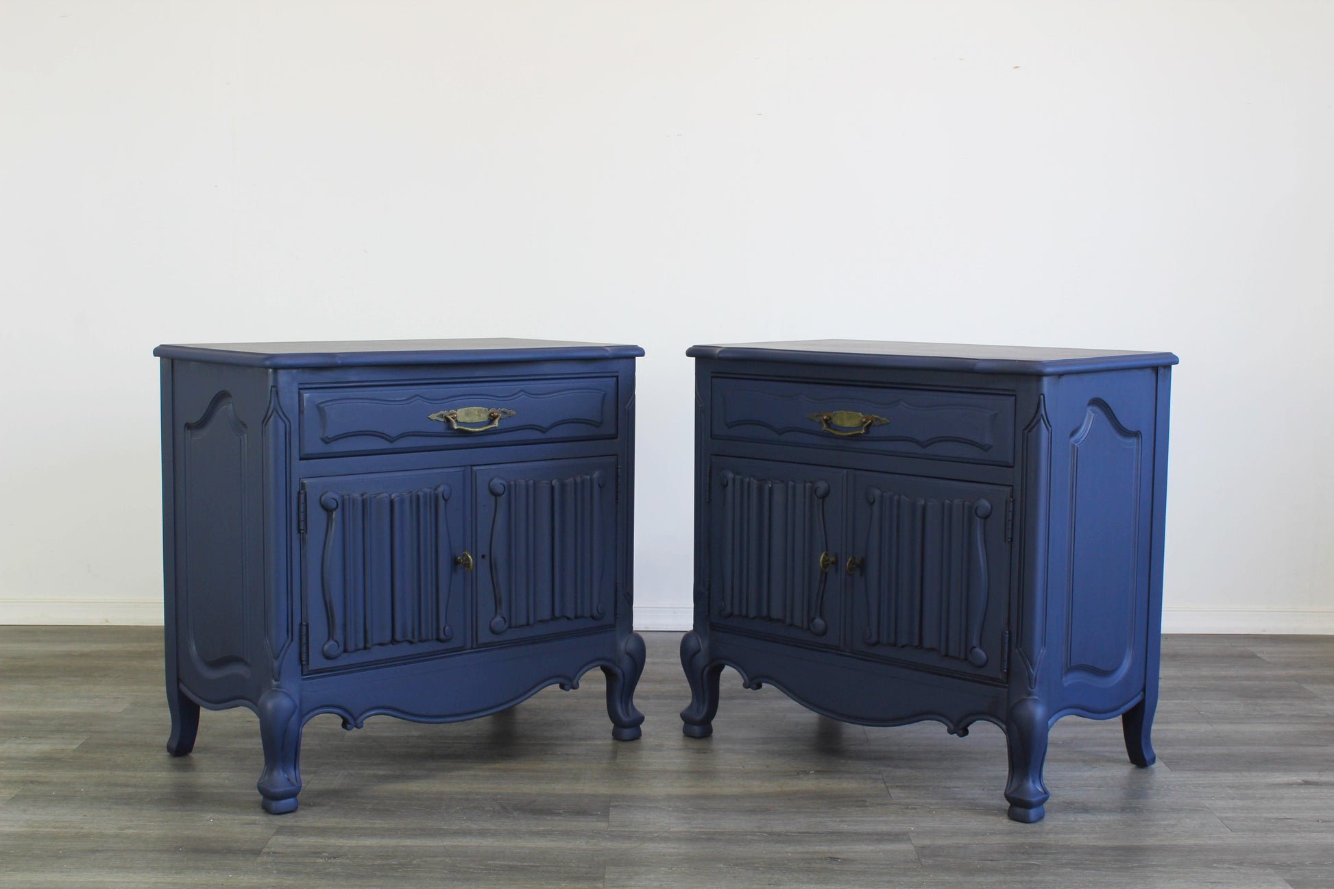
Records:
[[[245,594],[259,566],[247,546],[257,518],[245,497],[248,436],[232,394],[220,391],[181,440],[177,619],[193,669],[209,679],[249,675]]]

